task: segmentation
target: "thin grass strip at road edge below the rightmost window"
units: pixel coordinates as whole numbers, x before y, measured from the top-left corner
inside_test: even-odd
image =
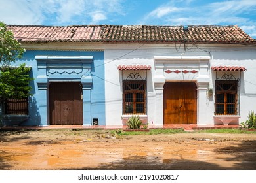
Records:
[[[199,130],[195,130],[194,133],[244,133],[244,134],[255,133],[256,134],[256,131],[248,131],[243,129],[199,129]]]

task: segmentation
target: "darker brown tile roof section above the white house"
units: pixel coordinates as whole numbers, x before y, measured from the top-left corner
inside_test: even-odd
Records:
[[[104,42],[256,42],[240,27],[234,26],[151,26],[151,25],[104,25]]]

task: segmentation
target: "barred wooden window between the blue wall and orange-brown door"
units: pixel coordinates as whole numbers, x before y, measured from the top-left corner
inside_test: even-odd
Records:
[[[146,80],[123,80],[123,114],[146,114]]]

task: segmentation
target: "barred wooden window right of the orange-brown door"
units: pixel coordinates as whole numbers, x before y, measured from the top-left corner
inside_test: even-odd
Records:
[[[215,115],[236,115],[238,80],[215,81]]]

